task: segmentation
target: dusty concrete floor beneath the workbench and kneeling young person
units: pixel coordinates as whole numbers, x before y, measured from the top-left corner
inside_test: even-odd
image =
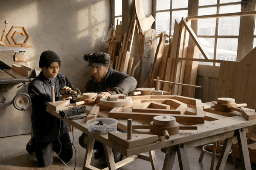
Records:
[[[35,153],[30,155],[26,151],[26,143],[30,139],[30,134],[10,136],[5,138],[0,138],[0,170],[82,170],[85,149],[81,147],[78,143],[78,138],[81,135],[81,131],[74,131],[74,146],[76,147],[73,152],[73,158],[67,162],[67,166],[62,163],[57,155],[55,154],[54,160],[51,166],[46,168],[39,168],[37,164],[37,159]],[[71,141],[73,140],[73,134],[70,132]],[[160,150],[156,150],[157,164],[159,169],[163,168],[163,160],[165,153]],[[208,153],[204,154],[204,159],[198,162],[198,158],[201,153],[200,147],[189,148],[189,164],[191,170],[209,170],[211,164],[211,155]],[[218,157],[215,160],[215,166],[217,164]],[[236,170],[242,170],[240,160],[238,159],[239,168]],[[103,164],[101,159],[92,159],[91,165],[103,169],[106,165]],[[252,170],[256,170],[256,164],[251,163]],[[151,163],[141,159],[137,159],[118,170],[151,170]],[[175,164],[173,170],[179,170],[179,164],[177,155],[175,158]],[[227,163],[224,170],[235,170],[232,157],[228,157]]]

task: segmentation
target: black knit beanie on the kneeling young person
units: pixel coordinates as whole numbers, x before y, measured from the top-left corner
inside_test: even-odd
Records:
[[[46,67],[48,68],[49,65],[52,64],[52,62],[58,62],[61,63],[61,59],[60,57],[58,57],[58,55],[53,52],[53,51],[44,51],[41,56],[40,56],[40,60],[39,60],[39,67]]]

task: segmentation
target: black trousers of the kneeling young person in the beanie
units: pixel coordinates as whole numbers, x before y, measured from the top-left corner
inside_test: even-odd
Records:
[[[69,133],[67,132],[60,136],[59,140],[57,139],[52,143],[38,142],[35,140],[35,155],[38,159],[39,167],[47,167],[52,164],[53,152],[57,153],[59,158],[64,162],[72,158],[73,148]]]

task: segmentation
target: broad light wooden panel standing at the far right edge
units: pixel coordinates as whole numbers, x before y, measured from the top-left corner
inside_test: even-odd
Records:
[[[218,76],[216,99],[230,97],[255,109],[256,101],[256,48],[241,61],[222,61]]]

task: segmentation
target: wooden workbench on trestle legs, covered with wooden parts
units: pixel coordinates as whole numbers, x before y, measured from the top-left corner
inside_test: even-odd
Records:
[[[53,111],[50,108],[47,108],[47,111],[61,119],[58,111]],[[108,116],[108,111],[101,110],[99,116]],[[224,140],[223,151],[221,152],[221,156],[216,167],[217,170],[223,170],[230,148],[233,144],[233,139],[235,136],[237,136],[241,162],[244,165],[245,170],[251,170],[246,133],[249,131],[250,126],[256,125],[256,120],[247,121],[244,119],[241,113],[236,111],[224,113],[214,111],[214,109],[204,111],[204,116],[204,123],[196,124],[198,127],[197,130],[179,130],[179,133],[170,136],[170,139],[168,140],[162,139],[155,143],[144,144],[142,146],[132,148],[125,148],[124,146],[111,141],[108,139],[108,134],[99,135],[90,133],[87,128],[86,119],[72,121],[64,118],[63,120],[90,136],[90,143],[87,145],[84,159],[84,169],[97,170],[96,167],[92,167],[90,165],[94,140],[98,140],[104,144],[105,151],[108,153],[107,160],[109,170],[116,170],[116,168],[119,168],[137,158],[151,161],[153,170],[157,170],[158,167],[156,161],[154,161],[154,150],[161,148],[166,148],[166,157],[164,160],[163,170],[172,169],[176,153],[178,155],[180,169],[189,170],[190,167],[187,148]],[[118,127],[123,130],[127,130],[125,129],[127,120],[118,121]],[[133,125],[136,124],[139,123],[134,122]],[[145,131],[145,129],[142,131]],[[138,130],[138,133],[140,133],[140,130]],[[122,153],[124,156],[128,157],[128,159],[122,160],[121,162],[115,164],[112,149]],[[143,153],[146,152],[149,152],[149,157],[143,155]]]

